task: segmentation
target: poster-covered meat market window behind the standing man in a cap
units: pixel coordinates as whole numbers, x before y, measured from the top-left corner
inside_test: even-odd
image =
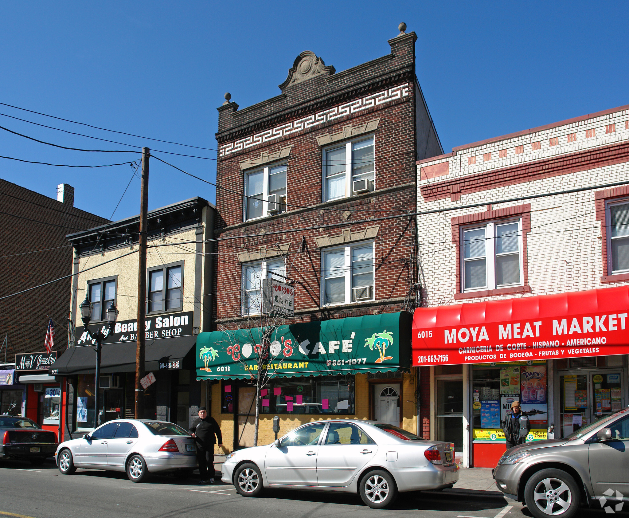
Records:
[[[532,430],[548,428],[548,376],[546,363],[497,363],[476,365],[472,381],[472,423],[475,431],[496,431],[519,401]],[[493,433],[493,432],[492,432]],[[476,433],[474,437],[491,437]]]

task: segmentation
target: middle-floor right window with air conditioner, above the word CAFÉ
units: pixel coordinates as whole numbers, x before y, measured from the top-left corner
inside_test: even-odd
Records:
[[[374,244],[348,245],[322,252],[324,305],[374,300]]]

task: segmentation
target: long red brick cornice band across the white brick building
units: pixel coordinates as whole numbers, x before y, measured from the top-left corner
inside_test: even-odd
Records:
[[[506,185],[532,182],[543,178],[587,171],[624,162],[629,162],[629,142],[627,141],[426,184],[421,186],[421,196],[423,196],[425,201],[442,200],[443,198],[448,198],[448,196],[450,196],[452,201],[457,201],[464,194],[477,193]]]

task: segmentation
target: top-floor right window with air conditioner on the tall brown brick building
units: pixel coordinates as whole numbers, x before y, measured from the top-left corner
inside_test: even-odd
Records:
[[[323,201],[375,189],[374,138],[363,138],[323,151]]]

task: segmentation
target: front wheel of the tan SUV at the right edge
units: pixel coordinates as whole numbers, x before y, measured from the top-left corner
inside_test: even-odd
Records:
[[[581,493],[572,475],[548,468],[528,479],[524,500],[528,510],[537,518],[571,518],[579,509]]]

